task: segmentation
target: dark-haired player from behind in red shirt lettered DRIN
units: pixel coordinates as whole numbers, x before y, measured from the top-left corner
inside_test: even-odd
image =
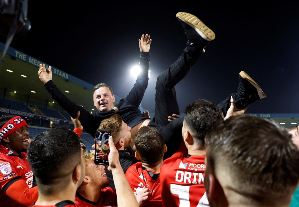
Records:
[[[232,104],[233,105],[233,104]],[[224,119],[219,107],[200,99],[185,108],[182,128],[187,157],[166,159],[160,170],[163,206],[208,206],[204,188],[205,134]]]

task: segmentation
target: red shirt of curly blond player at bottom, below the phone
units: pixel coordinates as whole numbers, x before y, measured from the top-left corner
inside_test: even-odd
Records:
[[[75,205],[78,207],[117,206],[116,191],[110,187],[101,189],[101,196],[97,202],[87,200],[76,193]]]

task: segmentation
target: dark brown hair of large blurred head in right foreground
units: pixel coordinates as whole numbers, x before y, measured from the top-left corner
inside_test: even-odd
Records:
[[[207,166],[213,174],[231,176],[234,183],[228,187],[239,195],[271,206],[295,191],[299,149],[275,121],[232,116],[209,131],[205,142]]]

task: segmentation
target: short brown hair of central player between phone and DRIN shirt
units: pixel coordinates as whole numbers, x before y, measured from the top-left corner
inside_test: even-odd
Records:
[[[157,129],[152,127],[143,126],[138,130],[135,135],[135,147],[141,162],[155,164],[163,158],[163,137]]]

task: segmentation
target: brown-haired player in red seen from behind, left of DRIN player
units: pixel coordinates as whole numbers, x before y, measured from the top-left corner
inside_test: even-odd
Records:
[[[141,162],[130,166],[126,172],[133,193],[138,195],[146,187],[148,199],[143,206],[161,206],[160,167],[167,151],[162,135],[149,126],[140,128],[135,137],[135,156]],[[139,203],[142,205],[142,203]]]

